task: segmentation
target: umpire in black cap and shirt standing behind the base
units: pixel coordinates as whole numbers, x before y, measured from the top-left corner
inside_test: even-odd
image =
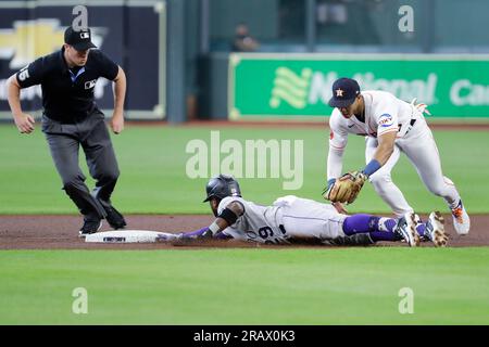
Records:
[[[124,129],[124,70],[91,42],[91,31],[64,33],[60,51],[41,56],[8,80],[9,104],[21,133],[34,131],[34,118],[23,113],[22,88],[41,85],[42,132],[63,181],[63,189],[84,216],[79,235],[97,232],[106,219],[114,229],[126,226],[124,217],[112,206],[111,194],[120,175],[114,149],[103,113],[93,101],[99,77],[114,81],[114,113],[110,126],[114,133]],[[96,188],[90,193],[78,165],[82,145]]]

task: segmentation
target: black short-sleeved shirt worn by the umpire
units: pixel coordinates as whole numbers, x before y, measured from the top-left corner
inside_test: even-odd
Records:
[[[70,69],[64,48],[41,56],[16,74],[21,88],[41,85],[45,115],[60,123],[76,123],[96,108],[93,89],[99,77],[114,80],[118,66],[99,50],[90,50],[83,67]]]

